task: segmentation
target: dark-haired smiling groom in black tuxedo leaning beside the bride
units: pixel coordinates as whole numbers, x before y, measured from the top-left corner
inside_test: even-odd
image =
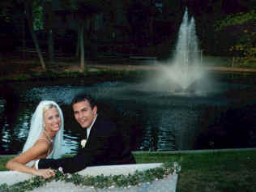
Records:
[[[97,114],[97,106],[91,96],[75,96],[72,108],[76,121],[84,129],[84,147],[70,158],[37,160],[36,169],[62,167],[64,173],[75,173],[87,166],[135,164],[130,147],[124,143],[117,126]]]

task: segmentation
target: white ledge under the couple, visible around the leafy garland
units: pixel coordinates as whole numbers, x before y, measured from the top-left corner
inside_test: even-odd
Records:
[[[156,167],[160,167],[162,165],[161,163],[155,163],[155,164],[123,164],[123,165],[106,165],[106,166],[92,166],[87,167],[87,169],[83,169],[82,171],[79,171],[78,173],[81,175],[91,175],[91,176],[97,176],[97,175],[128,175],[135,173],[136,170],[138,171],[145,171],[147,169],[154,169]],[[17,182],[27,180],[29,178],[33,177],[30,174],[26,173],[19,173],[16,171],[2,171],[0,172],[0,185],[3,183],[6,183],[7,185],[13,185]],[[141,186],[130,186],[129,188],[113,188],[108,189],[109,191],[113,192],[175,192],[177,187],[177,178],[178,175],[169,175],[168,177],[153,181],[152,183],[142,183]],[[55,191],[62,191],[62,192],[104,192],[105,189],[93,189],[90,186],[87,187],[81,187],[81,186],[75,186],[73,183],[66,183],[64,181],[52,181],[46,184],[46,186],[41,186],[39,188],[36,188],[32,190],[32,192],[55,192]]]

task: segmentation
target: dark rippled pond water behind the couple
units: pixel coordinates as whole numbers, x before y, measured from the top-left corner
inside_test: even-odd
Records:
[[[196,92],[159,89],[148,79],[112,79],[91,85],[86,79],[7,83],[18,92],[19,100],[6,107],[6,100],[0,98],[1,154],[22,150],[40,100],[55,100],[62,108],[63,151],[75,153],[82,129],[70,102],[79,92],[96,98],[99,114],[117,122],[133,151],[256,147],[256,76],[207,76],[213,79],[211,83]]]

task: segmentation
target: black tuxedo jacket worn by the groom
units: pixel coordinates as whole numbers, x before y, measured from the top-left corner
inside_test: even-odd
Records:
[[[64,173],[75,173],[87,166],[111,164],[135,164],[135,160],[117,126],[98,115],[85,147],[77,155],[58,160],[39,160],[38,169],[62,167]]]

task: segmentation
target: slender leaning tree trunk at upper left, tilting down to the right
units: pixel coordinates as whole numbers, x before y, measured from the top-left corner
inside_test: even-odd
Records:
[[[26,17],[27,17],[27,20],[28,20],[28,28],[29,28],[29,31],[31,32],[32,40],[34,41],[34,44],[36,46],[36,52],[38,53],[38,57],[39,57],[40,62],[41,62],[42,70],[45,71],[46,70],[45,61],[44,61],[43,55],[41,53],[41,49],[38,45],[36,34],[34,32],[34,29],[33,29],[32,7],[28,5],[29,4],[28,1],[25,1],[24,3],[25,3]]]

